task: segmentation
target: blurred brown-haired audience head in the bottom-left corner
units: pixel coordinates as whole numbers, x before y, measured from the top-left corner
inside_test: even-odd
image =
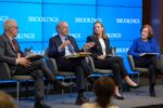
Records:
[[[16,108],[14,99],[4,92],[0,92],[0,108]]]

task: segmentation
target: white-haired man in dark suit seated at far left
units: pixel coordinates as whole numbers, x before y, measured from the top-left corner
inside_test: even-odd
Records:
[[[4,23],[4,33],[0,36],[0,62],[9,65],[11,76],[13,75],[30,75],[35,80],[35,108],[51,108],[43,102],[43,77],[52,83],[65,85],[58,82],[52,71],[47,67],[46,62],[37,59],[30,62],[21,52],[17,41],[14,39],[18,32],[17,24],[14,19],[8,19]]]

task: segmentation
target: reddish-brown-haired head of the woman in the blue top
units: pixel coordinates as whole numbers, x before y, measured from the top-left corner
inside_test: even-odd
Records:
[[[142,39],[150,39],[153,37],[153,29],[150,25],[143,25],[140,29]]]

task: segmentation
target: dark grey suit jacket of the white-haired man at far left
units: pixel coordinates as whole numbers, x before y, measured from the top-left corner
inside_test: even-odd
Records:
[[[22,53],[18,43],[17,48],[18,52]],[[5,33],[0,36],[0,62],[4,62],[9,65],[11,75],[13,75],[16,69],[16,58],[18,52],[14,50],[9,37]]]

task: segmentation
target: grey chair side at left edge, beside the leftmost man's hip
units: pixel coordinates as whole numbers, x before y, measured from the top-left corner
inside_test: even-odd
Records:
[[[11,73],[7,63],[0,63],[0,80],[10,80]]]

